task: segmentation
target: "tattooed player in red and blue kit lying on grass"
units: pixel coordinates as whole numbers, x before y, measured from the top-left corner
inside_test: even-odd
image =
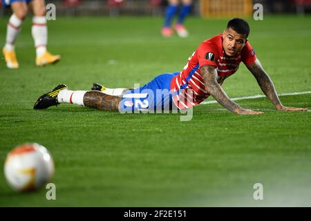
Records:
[[[252,46],[247,41],[248,35],[248,23],[243,19],[232,19],[222,34],[200,44],[180,73],[159,75],[148,84],[135,89],[110,89],[94,84],[91,91],[74,91],[60,84],[49,93],[41,95],[34,108],[44,109],[68,103],[105,111],[187,109],[200,104],[211,95],[219,104],[233,113],[262,114],[261,111],[241,108],[227,96],[221,87],[223,81],[233,75],[243,61],[256,78],[263,93],[279,111],[306,111],[306,108],[291,108],[281,104],[272,80],[263,70]],[[158,94],[159,91],[160,94]]]

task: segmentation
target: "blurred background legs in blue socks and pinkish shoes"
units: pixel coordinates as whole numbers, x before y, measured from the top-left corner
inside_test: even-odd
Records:
[[[192,0],[182,0],[182,4],[180,6],[178,20],[176,21],[173,28],[176,30],[178,36],[180,37],[188,37],[188,31],[184,26],[184,21],[192,7]],[[169,0],[169,5],[167,6],[167,10],[165,12],[164,26],[162,28],[162,36],[163,37],[171,37],[173,35],[173,30],[171,28],[171,23],[173,20],[176,11],[178,10],[179,0]]]

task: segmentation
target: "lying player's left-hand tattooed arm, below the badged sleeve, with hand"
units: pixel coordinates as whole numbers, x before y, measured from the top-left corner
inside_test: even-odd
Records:
[[[233,102],[228,95],[225,93],[225,90],[217,82],[217,70],[216,66],[202,66],[200,68],[202,77],[205,83],[205,89],[207,92],[216,99],[216,101],[227,108],[229,111],[238,114],[261,114],[262,112],[245,110]]]

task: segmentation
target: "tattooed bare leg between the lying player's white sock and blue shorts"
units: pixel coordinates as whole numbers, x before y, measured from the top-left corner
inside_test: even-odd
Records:
[[[121,97],[106,95],[100,91],[88,91],[83,97],[85,106],[104,111],[117,111]]]

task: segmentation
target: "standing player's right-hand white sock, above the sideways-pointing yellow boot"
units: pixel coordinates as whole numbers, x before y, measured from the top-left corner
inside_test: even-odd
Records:
[[[32,17],[32,37],[35,41],[37,57],[44,55],[48,44],[48,28],[46,27],[45,16]]]

